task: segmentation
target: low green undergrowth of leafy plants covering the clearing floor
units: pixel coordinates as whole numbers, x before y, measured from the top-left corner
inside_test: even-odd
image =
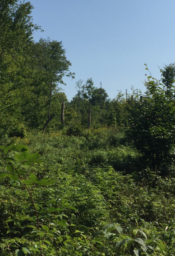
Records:
[[[139,153],[104,147],[105,133],[31,133],[1,147],[1,255],[174,255],[174,177],[138,178]],[[97,134],[104,144],[90,149]]]

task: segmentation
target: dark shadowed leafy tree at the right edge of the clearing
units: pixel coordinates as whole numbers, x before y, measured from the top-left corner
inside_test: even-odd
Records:
[[[131,125],[128,133],[143,154],[146,165],[167,174],[174,161],[175,102],[172,95],[175,92],[175,67],[170,64],[160,71],[163,83],[148,76],[143,102],[137,102],[135,108],[130,109]]]

